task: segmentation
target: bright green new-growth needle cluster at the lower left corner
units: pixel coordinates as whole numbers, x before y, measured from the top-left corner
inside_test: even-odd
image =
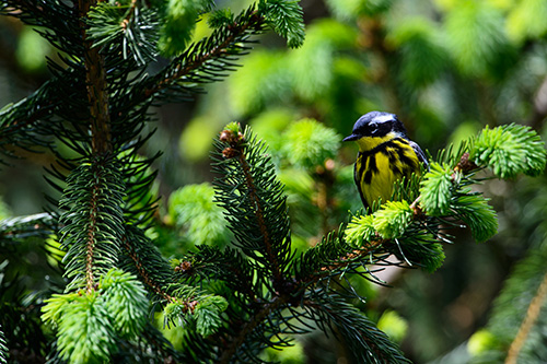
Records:
[[[117,352],[116,337],[137,338],[144,328],[148,298],[140,282],[117,269],[90,293],[54,294],[43,320],[58,331],[60,356],[70,363],[103,362]]]

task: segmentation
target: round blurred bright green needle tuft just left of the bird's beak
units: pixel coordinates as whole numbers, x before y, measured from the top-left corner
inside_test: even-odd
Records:
[[[313,119],[293,122],[284,133],[281,152],[292,165],[314,168],[334,158],[340,145],[340,137]]]

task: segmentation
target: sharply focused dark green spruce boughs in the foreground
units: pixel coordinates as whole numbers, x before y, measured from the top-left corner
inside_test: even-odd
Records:
[[[155,156],[138,155],[150,137],[143,132],[149,106],[186,101],[201,84],[222,80],[249,52],[253,36],[268,27],[290,47],[304,38],[294,1],[261,0],[240,14],[216,10],[210,1],[189,5],[186,12],[139,0],[0,3],[2,15],[35,26],[63,55],[59,63],[50,61],[49,81],[0,110],[2,162],[19,156],[20,149],[50,152],[56,163],[47,179],[62,195],[49,197],[47,213],[0,223],[2,238],[13,246],[28,238],[46,242],[65,272],[62,284],[35,298],[45,303],[39,308],[22,310],[13,303],[18,315],[42,309],[51,328],[38,352],[73,363],[256,362],[266,348],[290,345],[315,324],[344,341],[356,362],[407,362],[350,303],[348,294],[357,293],[341,277],[374,280],[373,265],[434,271],[444,259],[441,243],[451,239],[441,227],[459,226],[458,221],[477,240],[487,240],[497,230],[496,213],[470,189],[478,181],[475,173],[488,167],[501,178],[538,175],[545,168],[543,142],[516,125],[485,129],[458,152],[441,153],[421,180],[398,186],[392,202],[368,215],[356,213],[347,226],[296,253],[283,186],[266,145],[231,124],[216,142],[213,169],[216,200],[233,242],[224,249],[199,245],[167,261],[149,231],[158,224],[150,168]],[[193,24],[206,12],[212,33],[188,44]],[[159,52],[172,58],[147,73]],[[331,140],[328,130],[316,132],[307,141],[324,146]],[[288,137],[296,140],[299,133],[294,129]],[[300,158],[309,167],[330,152]],[[43,333],[39,321],[27,322],[18,327],[27,330],[21,336],[34,340],[28,332]],[[175,341],[178,350],[160,330],[172,326],[184,329]],[[54,344],[46,334],[55,336]],[[7,361],[9,344],[0,334],[0,362]]]

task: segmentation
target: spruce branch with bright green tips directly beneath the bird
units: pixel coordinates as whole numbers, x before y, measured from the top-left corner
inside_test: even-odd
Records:
[[[491,130],[486,128],[476,139],[464,143],[457,153],[459,155],[453,154],[452,148],[440,153],[442,164],[431,163],[430,171],[419,181],[419,195],[411,203],[406,202],[407,197],[401,195],[408,193],[401,188],[401,183],[395,188],[396,201],[382,204],[371,215],[353,216],[346,235],[340,238],[346,239],[353,249],[327,248],[325,250],[331,256],[323,256],[324,263],[318,267],[315,263],[315,268],[325,271],[334,268],[330,273],[336,274],[339,269],[351,267],[358,257],[372,257],[368,249],[372,246],[394,254],[410,266],[418,265],[433,271],[444,259],[439,243],[446,242],[446,238],[440,226],[455,224],[445,218],[456,218],[467,224],[477,242],[487,240],[498,231],[496,212],[488,204],[488,199],[468,187],[476,183],[473,175],[477,171],[490,167],[501,177],[512,177],[517,173],[537,175],[545,168],[547,161],[537,133],[516,125]],[[417,181],[411,180],[408,189],[415,189],[412,186],[417,186]],[[317,261],[313,256],[324,248],[323,245],[339,247],[340,243],[326,239],[315,249],[306,251],[303,261],[311,265]],[[371,263],[373,261],[374,258],[371,258]]]

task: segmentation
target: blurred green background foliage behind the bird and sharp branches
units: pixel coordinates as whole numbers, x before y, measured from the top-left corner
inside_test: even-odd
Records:
[[[219,1],[219,7],[236,12],[249,3]],[[287,49],[283,39],[269,33],[224,82],[208,85],[193,102],[151,110],[150,129],[158,130],[141,153],[163,151],[155,163],[154,191],[162,197],[161,224],[150,234],[166,257],[197,244],[230,242],[222,211],[211,202],[209,152],[212,139],[233,120],[251,126],[269,145],[286,185],[295,249],[314,245],[347,222],[348,211],[360,208],[352,181],[357,148],[341,139],[362,114],[397,114],[410,138],[432,156],[487,125],[524,124],[545,136],[547,1],[301,4],[303,47]],[[206,22],[199,22],[195,39],[207,32]],[[46,57],[59,57],[36,32],[11,17],[0,17],[0,106],[36,90],[48,79]],[[40,212],[47,204],[44,195],[54,193],[42,177],[53,157],[25,155],[0,172],[0,216]],[[452,231],[456,244],[445,247],[445,265],[438,272],[379,273],[393,287],[356,282],[366,297],[357,304],[380,319],[416,363],[467,362],[467,340],[488,322],[492,301],[514,263],[545,249],[545,176],[492,179],[480,190],[499,211],[493,239],[479,245],[467,231]],[[20,257],[23,277],[32,270],[39,275],[36,267],[45,271],[36,250],[40,248]],[[265,356],[334,363],[344,356],[340,350],[333,338],[310,334],[293,350]]]

